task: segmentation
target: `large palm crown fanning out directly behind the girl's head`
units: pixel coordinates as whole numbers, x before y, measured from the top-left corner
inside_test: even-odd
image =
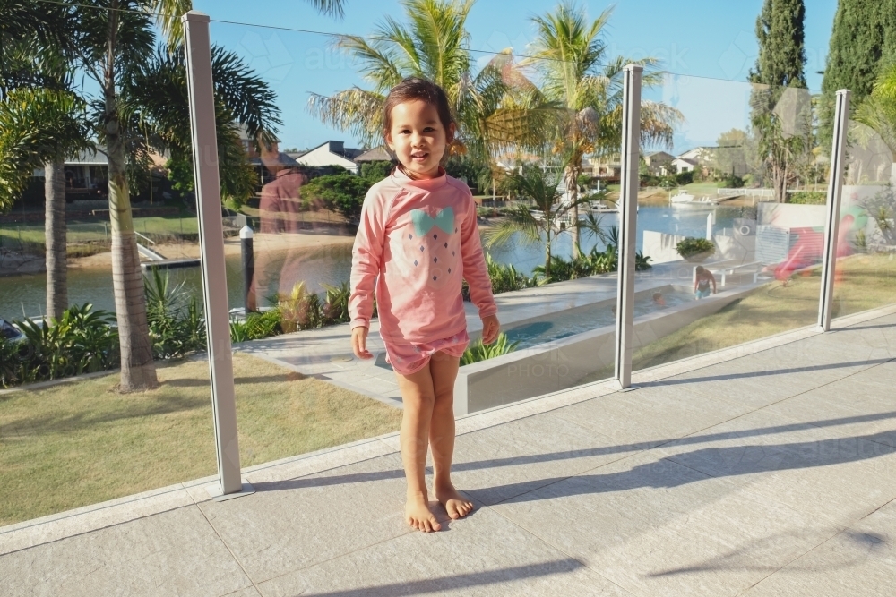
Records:
[[[308,107],[324,123],[364,143],[383,139],[383,101],[407,77],[422,77],[445,90],[459,129],[453,155],[491,161],[499,148],[530,146],[543,139],[551,107],[514,66],[509,51],[472,74],[466,21],[473,0],[403,0],[408,26],[386,17],[372,37],[337,36],[335,47],[360,63],[372,87],[332,96],[312,93]]]

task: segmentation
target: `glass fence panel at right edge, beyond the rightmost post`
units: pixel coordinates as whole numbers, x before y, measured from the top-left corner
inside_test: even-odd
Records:
[[[879,101],[849,122],[833,317],[896,303],[892,111],[875,109]]]

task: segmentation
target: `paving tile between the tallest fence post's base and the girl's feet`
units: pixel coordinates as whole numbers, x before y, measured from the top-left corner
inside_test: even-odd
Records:
[[[395,454],[254,488],[200,507],[255,583],[409,533]]]

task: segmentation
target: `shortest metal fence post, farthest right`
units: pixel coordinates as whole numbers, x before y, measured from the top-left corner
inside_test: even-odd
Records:
[[[849,131],[849,90],[837,92],[834,108],[834,140],[831,147],[831,180],[828,181],[828,214],[824,226],[822,288],[818,298],[818,327],[831,330],[831,302],[834,297],[834,273],[837,269],[837,243],[840,240],[840,198],[846,162],[846,138]]]

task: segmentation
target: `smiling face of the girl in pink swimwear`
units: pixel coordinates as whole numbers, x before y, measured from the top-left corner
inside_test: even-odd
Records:
[[[421,99],[392,108],[392,127],[386,132],[386,143],[411,178],[438,176],[445,146],[453,138],[454,124],[446,131],[435,107]]]

